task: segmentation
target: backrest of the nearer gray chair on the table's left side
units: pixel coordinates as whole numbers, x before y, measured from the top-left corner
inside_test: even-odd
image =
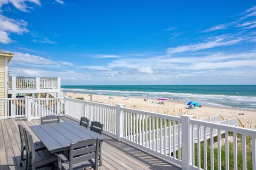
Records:
[[[32,138],[32,135],[28,132],[28,130],[25,130],[25,143],[26,143],[26,154],[28,153],[28,167],[32,165],[32,167],[35,167],[36,163],[36,154],[35,154],[35,147],[34,147],[34,141]]]

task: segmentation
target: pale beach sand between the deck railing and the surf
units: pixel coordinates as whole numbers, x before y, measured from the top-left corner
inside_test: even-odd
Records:
[[[90,94],[75,94],[73,92],[66,92],[67,97],[71,98],[84,98],[90,101]],[[164,100],[164,104],[157,104],[159,100],[148,98],[144,101],[142,97],[129,97],[125,99],[122,96],[109,96],[106,95],[92,95],[92,101],[101,102],[109,105],[124,104],[127,108],[139,109],[142,111],[149,111],[155,113],[181,115],[190,114],[195,115],[196,119],[202,119],[209,116],[221,114],[225,119],[234,118],[238,116],[239,120],[245,125],[245,128],[256,129],[256,111],[246,109],[245,111],[232,111],[231,107],[215,107],[215,106],[202,106],[188,108],[187,103],[181,101]],[[243,113],[243,115],[241,115]]]

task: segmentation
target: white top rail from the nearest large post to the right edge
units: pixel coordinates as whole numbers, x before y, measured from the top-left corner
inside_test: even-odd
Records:
[[[237,126],[214,123],[214,122],[205,122],[205,121],[195,120],[195,119],[190,119],[189,121],[191,124],[202,125],[202,126],[206,126],[207,128],[227,130],[229,132],[243,133],[246,135],[251,135],[256,137],[256,130],[253,130],[253,129],[240,128]]]

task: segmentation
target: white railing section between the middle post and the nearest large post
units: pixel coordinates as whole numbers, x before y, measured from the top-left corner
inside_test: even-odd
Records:
[[[122,140],[181,165],[181,118],[121,107]]]

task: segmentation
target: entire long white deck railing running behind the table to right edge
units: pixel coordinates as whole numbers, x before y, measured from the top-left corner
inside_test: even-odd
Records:
[[[235,124],[235,119],[215,123],[195,120],[193,115],[171,116],[71,98],[26,98],[28,120],[62,113],[103,123],[104,133],[182,169],[247,169],[247,164],[256,169],[256,131],[225,124]],[[231,156],[234,162],[230,162]]]

